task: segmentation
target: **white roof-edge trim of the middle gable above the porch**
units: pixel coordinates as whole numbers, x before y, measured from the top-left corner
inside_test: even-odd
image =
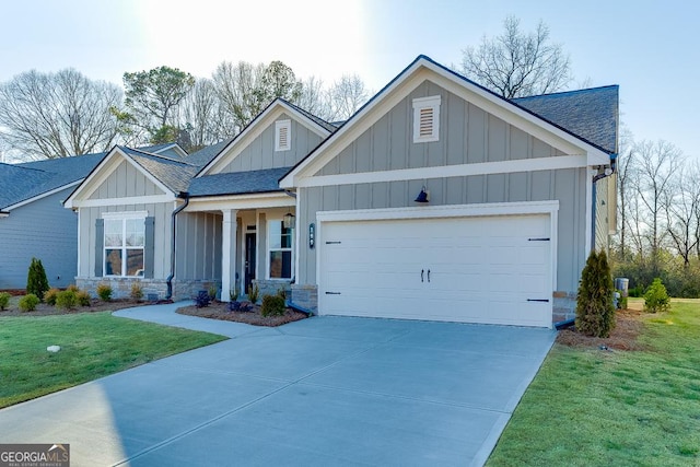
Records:
[[[199,173],[197,173],[197,177],[201,177],[207,174],[212,167],[214,167],[223,157],[225,157],[230,151],[238,144],[242,144],[246,141],[246,137],[256,135],[256,131],[260,130],[261,122],[266,120],[268,116],[270,116],[278,108],[281,108],[282,112],[289,114],[290,116],[295,117],[296,121],[306,126],[311,130],[315,131],[322,138],[326,138],[337,128],[329,122],[323,120],[319,117],[316,117],[313,114],[287,102],[282,97],[275,98],[265,109],[255,117],[238,135],[236,135],[233,139],[229,141],[229,143],[219,151],[214,157],[209,161],[205,166],[201,167]]]

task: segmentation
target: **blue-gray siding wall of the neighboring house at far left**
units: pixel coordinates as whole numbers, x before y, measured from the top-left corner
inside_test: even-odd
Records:
[[[24,289],[32,257],[42,260],[51,287],[73,282],[78,264],[78,217],[65,209],[72,188],[12,210],[0,218],[0,290]]]

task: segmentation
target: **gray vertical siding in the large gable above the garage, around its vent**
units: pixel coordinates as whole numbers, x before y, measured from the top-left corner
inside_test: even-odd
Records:
[[[441,95],[440,141],[416,144],[412,142],[412,101],[432,95]],[[561,152],[425,81],[345,148],[318,175],[553,155],[561,155]],[[499,188],[491,184],[489,189]]]

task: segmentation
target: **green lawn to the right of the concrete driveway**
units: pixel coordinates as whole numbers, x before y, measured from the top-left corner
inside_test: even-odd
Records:
[[[556,345],[487,465],[700,465],[700,301],[644,323],[644,351]]]

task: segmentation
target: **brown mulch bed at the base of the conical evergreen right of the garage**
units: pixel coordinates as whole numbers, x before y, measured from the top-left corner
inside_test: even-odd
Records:
[[[599,338],[584,336],[575,330],[575,327],[562,329],[557,336],[557,343],[569,347],[592,347],[598,349],[615,350],[644,350],[646,346],[637,339],[644,328],[643,313],[638,310],[618,310],[615,314],[616,326],[610,337]]]

